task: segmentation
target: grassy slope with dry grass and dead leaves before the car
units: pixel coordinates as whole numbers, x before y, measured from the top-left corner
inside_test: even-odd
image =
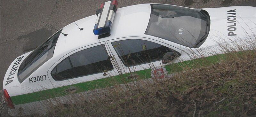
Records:
[[[256,52],[226,56],[212,66],[144,82],[139,89],[109,90],[106,97],[60,105],[50,116],[255,116]]]

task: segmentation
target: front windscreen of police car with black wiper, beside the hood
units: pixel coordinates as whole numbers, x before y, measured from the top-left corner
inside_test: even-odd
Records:
[[[145,34],[191,48],[199,47],[209,32],[210,19],[205,12],[172,5],[151,4],[151,15]]]

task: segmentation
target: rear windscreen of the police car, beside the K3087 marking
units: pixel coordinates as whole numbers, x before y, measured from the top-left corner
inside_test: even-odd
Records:
[[[55,33],[44,43],[38,46],[20,64],[18,71],[18,80],[20,83],[23,82],[29,75],[31,75],[37,68],[43,65],[47,60],[52,58],[55,45],[60,36],[60,32]]]

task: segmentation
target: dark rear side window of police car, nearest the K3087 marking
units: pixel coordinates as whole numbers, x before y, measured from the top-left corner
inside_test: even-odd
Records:
[[[113,70],[105,45],[78,51],[61,61],[51,72],[56,81]]]

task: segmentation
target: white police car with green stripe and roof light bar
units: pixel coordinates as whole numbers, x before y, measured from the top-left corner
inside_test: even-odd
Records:
[[[255,7],[192,9],[139,4],[100,5],[95,15],[63,27],[34,51],[17,57],[3,82],[12,116],[47,113],[53,99],[138,79],[162,79],[171,65],[221,54],[220,44],[254,40]],[[200,54],[198,54],[200,53]],[[97,92],[97,91],[95,91]],[[53,103],[54,105],[54,103]]]

